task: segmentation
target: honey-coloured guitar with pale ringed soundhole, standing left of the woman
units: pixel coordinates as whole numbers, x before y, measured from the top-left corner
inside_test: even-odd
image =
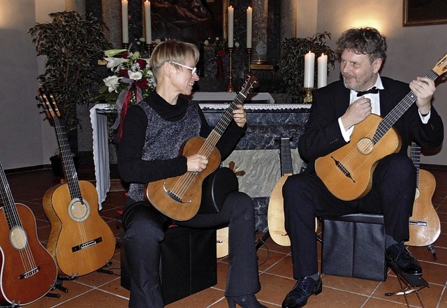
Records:
[[[63,119],[52,94],[38,90],[41,106],[57,133],[65,184],[52,186],[43,196],[43,210],[51,223],[47,249],[59,272],[82,276],[106,265],[115,254],[115,236],[98,213],[93,184],[79,181]]]

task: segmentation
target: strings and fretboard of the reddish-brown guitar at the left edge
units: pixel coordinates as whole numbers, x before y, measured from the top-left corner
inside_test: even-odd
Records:
[[[29,247],[29,238],[27,237],[26,230],[22,226],[22,222],[20,221],[20,216],[17,211],[17,207],[15,206],[15,201],[13,199],[12,193],[10,191],[10,186],[8,180],[6,179],[6,174],[4,173],[3,166],[0,163],[0,173],[1,173],[1,184],[2,189],[0,191],[1,200],[3,200],[3,212],[5,213],[6,221],[9,224],[9,229],[17,227],[24,233],[24,249],[17,249],[20,254],[20,259],[22,261],[22,266],[25,272],[29,272],[36,268],[36,261],[32,254],[31,248]],[[8,217],[10,221],[8,221]],[[10,236],[12,234],[10,233]],[[10,238],[10,242],[13,240]],[[13,245],[11,245],[13,246]],[[14,248],[14,247],[13,247]]]

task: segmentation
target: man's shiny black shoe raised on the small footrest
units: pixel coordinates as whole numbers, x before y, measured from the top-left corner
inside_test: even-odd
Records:
[[[393,244],[385,251],[386,262],[390,267],[395,267],[397,271],[409,275],[421,275],[422,267],[419,262],[411,256],[404,244]]]

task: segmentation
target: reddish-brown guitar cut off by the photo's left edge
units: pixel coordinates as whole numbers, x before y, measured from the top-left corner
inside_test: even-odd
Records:
[[[0,305],[27,305],[52,290],[57,267],[38,240],[33,212],[14,202],[1,163],[0,184]]]

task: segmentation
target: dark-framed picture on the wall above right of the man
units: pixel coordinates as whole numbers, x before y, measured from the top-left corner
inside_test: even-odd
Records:
[[[403,27],[447,24],[446,0],[403,0]]]

